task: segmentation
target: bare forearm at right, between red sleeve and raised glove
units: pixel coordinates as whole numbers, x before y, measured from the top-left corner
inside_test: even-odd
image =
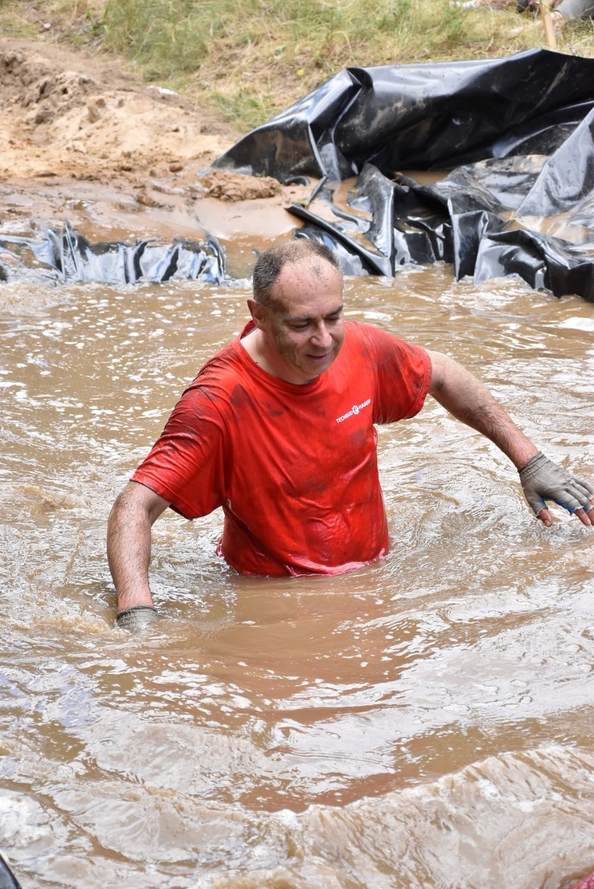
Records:
[[[517,469],[523,469],[538,448],[471,372],[439,352],[431,352],[430,356],[430,394],[456,420],[487,436]]]

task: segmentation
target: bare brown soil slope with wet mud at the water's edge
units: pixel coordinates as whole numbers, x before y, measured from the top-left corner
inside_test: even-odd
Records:
[[[199,176],[242,133],[117,60],[0,40],[0,232],[68,220],[91,240],[285,236],[310,188]],[[262,245],[265,245],[262,244]]]

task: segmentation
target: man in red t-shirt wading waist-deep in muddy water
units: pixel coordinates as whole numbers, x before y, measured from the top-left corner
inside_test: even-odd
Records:
[[[151,527],[167,507],[188,519],[222,507],[218,553],[247,575],[337,574],[384,557],[374,424],[415,416],[427,394],[509,457],[544,525],[545,501],[593,524],[590,484],[540,453],[470,372],[345,322],[327,247],[296,239],[262,253],[248,308],[249,323],[186,389],[111,510],[118,626],[141,629],[156,616]]]

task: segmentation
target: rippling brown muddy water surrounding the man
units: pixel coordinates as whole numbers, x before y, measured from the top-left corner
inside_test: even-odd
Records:
[[[381,428],[383,562],[253,580],[154,527],[113,626],[107,513],[247,289],[0,288],[0,847],[24,889],[560,889],[594,870],[594,532],[428,404]],[[477,372],[594,477],[594,305],[439,266],[348,316]]]

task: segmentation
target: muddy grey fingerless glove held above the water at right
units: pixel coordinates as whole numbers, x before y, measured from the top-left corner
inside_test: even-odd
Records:
[[[520,469],[519,481],[536,516],[541,509],[546,509],[545,501],[555,501],[571,513],[576,509],[588,512],[592,505],[590,497],[594,494],[594,488],[553,463],[540,451],[535,453],[524,469]]]

